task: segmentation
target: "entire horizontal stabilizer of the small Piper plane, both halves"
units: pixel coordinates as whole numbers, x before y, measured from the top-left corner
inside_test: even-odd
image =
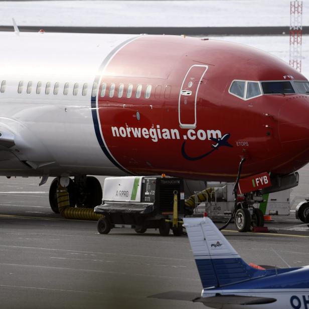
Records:
[[[148,296],[151,298],[159,299],[174,299],[174,300],[188,300],[193,302],[202,302],[203,304],[212,307],[218,304],[265,304],[276,301],[276,298],[270,297],[254,297],[254,296],[242,296],[242,295],[221,295],[210,297],[201,297],[195,292],[185,292],[185,291],[170,291],[159,293],[155,295]]]

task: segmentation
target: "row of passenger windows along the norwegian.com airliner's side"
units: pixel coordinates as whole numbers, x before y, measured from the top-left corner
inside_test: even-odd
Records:
[[[6,90],[6,85],[7,82],[5,80],[2,81],[1,87],[0,87],[0,92],[4,93]],[[161,85],[157,85],[156,87],[156,92],[158,90],[158,87],[160,87],[160,92],[161,92]],[[167,86],[170,87],[170,86]],[[54,85],[52,85],[51,82],[47,82],[46,85],[43,87],[43,83],[39,81],[37,84],[33,84],[32,81],[29,81],[27,84],[25,84],[24,81],[20,81],[18,84],[18,89],[17,92],[19,94],[22,94],[24,89],[26,89],[27,94],[31,94],[33,92],[33,88],[35,88],[35,91],[37,94],[41,94],[43,91],[45,94],[50,94],[54,93],[54,95],[59,94],[59,92],[63,92],[63,95],[68,95],[69,90],[70,90],[70,84],[65,83],[62,88],[60,89],[60,83],[56,82]],[[95,97],[96,93],[98,90],[98,84],[93,83],[92,85],[92,90],[91,90],[91,96]],[[79,83],[74,83],[73,89],[71,90],[73,95],[76,96],[78,95],[79,91],[81,91],[81,94],[83,96],[87,95],[88,93],[88,84],[84,83],[80,85]],[[127,87],[124,87],[124,84],[119,84],[117,89],[116,89],[116,84],[110,84],[109,87],[107,87],[106,83],[102,84],[101,90],[100,90],[100,97],[108,96],[112,98],[113,96],[117,96],[118,98],[121,97],[127,97],[130,98],[132,95],[135,98],[140,98],[142,92],[142,85],[138,84],[136,88],[134,89],[133,84],[128,84]],[[147,85],[144,93],[145,99],[149,99],[151,94],[151,85]]]

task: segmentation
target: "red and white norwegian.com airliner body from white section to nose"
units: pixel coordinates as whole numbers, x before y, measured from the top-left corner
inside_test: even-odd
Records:
[[[309,83],[261,50],[165,35],[0,40],[0,175],[74,177],[85,197],[100,186],[86,175],[234,181],[242,157],[242,177],[309,161]]]

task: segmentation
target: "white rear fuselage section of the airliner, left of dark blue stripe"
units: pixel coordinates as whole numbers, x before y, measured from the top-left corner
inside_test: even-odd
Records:
[[[97,141],[91,91],[102,62],[134,36],[13,32],[0,36],[0,83],[6,84],[0,93],[0,132],[15,136],[15,146],[5,155],[32,167],[19,165],[11,175],[2,161],[0,174],[122,175]]]

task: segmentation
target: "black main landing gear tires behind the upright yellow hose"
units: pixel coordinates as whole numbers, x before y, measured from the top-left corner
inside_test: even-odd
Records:
[[[54,213],[59,213],[57,202],[58,178],[55,178],[49,189],[49,203]],[[94,208],[102,203],[102,187],[93,176],[76,176],[68,185],[70,207]]]

